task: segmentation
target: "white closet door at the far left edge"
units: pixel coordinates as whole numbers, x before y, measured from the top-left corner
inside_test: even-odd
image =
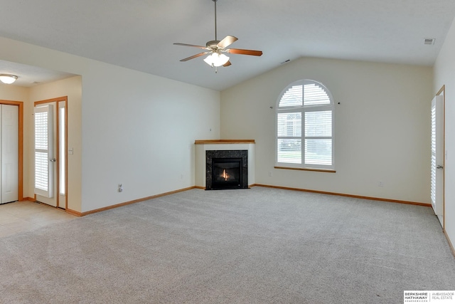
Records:
[[[18,200],[18,107],[1,105],[1,200]]]

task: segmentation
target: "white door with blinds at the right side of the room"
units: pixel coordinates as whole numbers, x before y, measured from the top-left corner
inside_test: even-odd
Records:
[[[444,102],[432,100],[432,206],[444,228]]]

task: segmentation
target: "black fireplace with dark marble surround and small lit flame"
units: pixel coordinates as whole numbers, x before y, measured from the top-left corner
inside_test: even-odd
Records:
[[[206,190],[248,188],[247,150],[207,150]]]

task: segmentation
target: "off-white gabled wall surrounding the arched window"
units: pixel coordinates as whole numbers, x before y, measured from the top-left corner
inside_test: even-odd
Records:
[[[277,98],[305,78],[336,103],[334,174],[274,169]],[[256,140],[257,184],[429,203],[432,95],[431,67],[301,58],[223,91],[221,137]]]

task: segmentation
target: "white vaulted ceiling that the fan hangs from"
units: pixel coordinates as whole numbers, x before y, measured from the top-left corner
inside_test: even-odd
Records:
[[[454,0],[218,0],[218,40],[236,36],[232,48],[264,53],[231,54],[232,65],[215,74],[204,57],[179,61],[200,49],[173,45],[215,40],[213,0],[0,0],[0,7],[0,36],[214,90],[300,57],[432,65],[455,16]],[[0,61],[0,73],[4,65],[14,70]]]

